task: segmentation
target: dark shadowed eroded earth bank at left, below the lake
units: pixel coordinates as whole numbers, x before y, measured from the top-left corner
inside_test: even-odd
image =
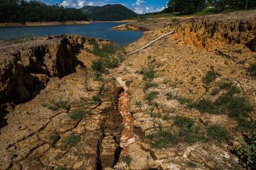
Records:
[[[75,55],[85,41],[81,36],[55,36],[2,46],[0,105],[25,102],[44,88],[49,78],[74,72],[80,63]]]

